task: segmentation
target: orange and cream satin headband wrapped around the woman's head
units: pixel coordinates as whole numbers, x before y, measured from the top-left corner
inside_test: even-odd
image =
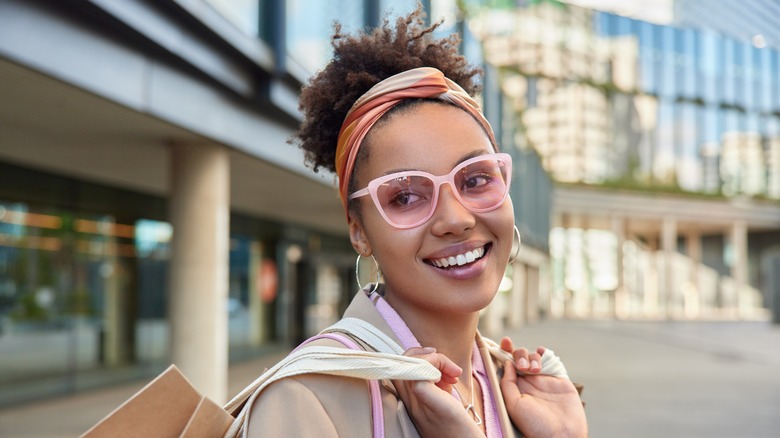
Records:
[[[455,82],[431,67],[407,70],[379,82],[352,105],[339,131],[336,146],[336,175],[339,178],[339,196],[344,211],[347,209],[349,178],[355,167],[360,145],[372,126],[404,99],[436,98],[450,102],[471,114],[496,145],[493,129],[490,127],[479,105]]]

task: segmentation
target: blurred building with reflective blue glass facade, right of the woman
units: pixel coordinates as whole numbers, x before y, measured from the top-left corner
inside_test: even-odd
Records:
[[[491,3],[472,29],[556,182],[558,313],[766,317],[780,51],[555,0]],[[689,3],[724,23],[733,10]]]

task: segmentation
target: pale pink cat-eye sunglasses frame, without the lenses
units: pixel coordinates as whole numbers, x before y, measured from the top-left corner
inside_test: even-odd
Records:
[[[455,186],[455,175],[466,166],[469,166],[474,163],[478,163],[480,161],[490,161],[490,160],[499,161],[503,163],[506,168],[506,179],[504,181],[506,188],[504,189],[504,195],[501,197],[500,201],[496,202],[496,205],[487,208],[473,208],[469,206],[466,202],[464,202],[463,198],[461,198],[460,191],[458,191],[458,188]],[[432,206],[427,216],[425,216],[423,219],[420,219],[419,221],[408,225],[397,224],[392,220],[390,220],[390,218],[385,213],[385,210],[382,208],[382,204],[379,202],[377,191],[382,184],[388,181],[392,181],[398,178],[410,177],[410,176],[421,176],[433,181],[433,200],[431,201]],[[509,196],[509,184],[511,183],[511,180],[512,180],[512,156],[504,152],[498,152],[498,153],[485,154],[485,155],[480,155],[478,157],[470,158],[455,166],[449,173],[445,175],[437,176],[437,175],[430,174],[428,172],[423,172],[421,170],[408,170],[404,172],[396,172],[396,173],[391,173],[389,175],[383,175],[371,180],[368,183],[367,187],[360,189],[352,193],[351,195],[349,195],[349,199],[352,200],[366,195],[370,195],[371,200],[374,202],[374,206],[376,207],[377,210],[379,210],[379,214],[382,215],[382,217],[385,219],[385,221],[387,221],[388,224],[390,224],[395,228],[407,229],[407,228],[414,228],[420,226],[425,222],[427,222],[431,217],[433,217],[433,213],[436,211],[436,207],[439,205],[439,192],[441,191],[441,186],[443,184],[450,185],[450,187],[453,189],[452,192],[455,194],[455,198],[467,210],[473,213],[485,213],[488,211],[495,210],[504,204],[504,201],[506,200],[507,196]]]

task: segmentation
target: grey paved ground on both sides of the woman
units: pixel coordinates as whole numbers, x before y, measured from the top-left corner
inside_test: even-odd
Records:
[[[543,321],[508,334],[554,349],[585,385],[591,437],[780,437],[780,326]],[[279,358],[231,366],[230,393]],[[144,384],[0,410],[0,437],[79,436]]]

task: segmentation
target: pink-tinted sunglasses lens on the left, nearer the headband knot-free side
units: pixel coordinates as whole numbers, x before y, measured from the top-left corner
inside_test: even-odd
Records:
[[[434,184],[424,176],[394,178],[377,188],[377,199],[392,222],[405,226],[419,222],[433,206]]]

